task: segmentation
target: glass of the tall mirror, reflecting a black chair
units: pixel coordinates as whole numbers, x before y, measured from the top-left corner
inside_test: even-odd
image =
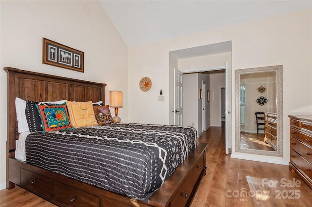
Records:
[[[268,121],[265,126],[268,112],[276,113],[276,71],[241,74],[240,148],[276,150],[276,138],[268,134],[276,128],[268,129]]]

